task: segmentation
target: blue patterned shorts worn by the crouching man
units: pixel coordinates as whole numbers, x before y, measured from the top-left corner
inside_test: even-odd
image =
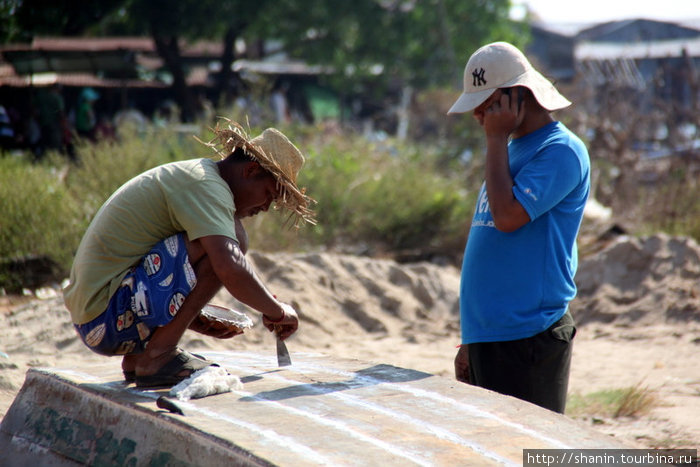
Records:
[[[173,235],[127,273],[104,313],[75,329],[96,353],[143,352],[153,330],[172,321],[196,283],[185,235]]]

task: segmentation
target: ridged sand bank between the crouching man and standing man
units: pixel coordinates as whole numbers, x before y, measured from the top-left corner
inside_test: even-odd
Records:
[[[328,348],[348,338],[389,336],[415,341],[416,335],[458,331],[459,271],[454,267],[330,253],[250,252],[248,259],[272,293],[298,311],[297,346]],[[260,321],[260,314],[225,292],[215,301]],[[269,340],[267,334],[256,325],[242,340]]]

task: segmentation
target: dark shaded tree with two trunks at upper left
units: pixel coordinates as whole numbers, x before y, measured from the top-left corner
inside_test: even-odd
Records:
[[[195,103],[186,83],[180,50],[182,39],[221,38],[223,41],[219,92],[232,80],[236,39],[253,23],[267,0],[0,0],[6,40],[35,35],[78,36],[142,35],[153,38],[156,50],[173,77],[173,91],[184,121],[195,115]],[[229,96],[230,97],[230,96]]]

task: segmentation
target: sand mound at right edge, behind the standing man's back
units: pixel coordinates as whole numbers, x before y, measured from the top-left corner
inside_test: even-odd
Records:
[[[581,262],[576,283],[582,326],[700,323],[700,245],[691,238],[618,237]]]

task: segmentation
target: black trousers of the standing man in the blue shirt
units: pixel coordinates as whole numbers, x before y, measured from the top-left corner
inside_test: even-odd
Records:
[[[469,344],[471,384],[564,413],[576,327],[567,311],[526,339]]]

